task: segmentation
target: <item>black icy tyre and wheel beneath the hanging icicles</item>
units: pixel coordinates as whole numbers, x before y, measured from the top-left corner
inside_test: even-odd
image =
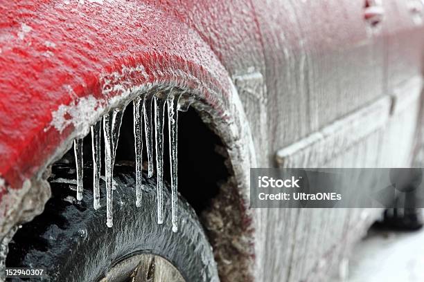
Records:
[[[172,232],[170,192],[164,189],[165,222],[157,224],[156,180],[143,182],[135,206],[134,167],[114,169],[114,226],[106,226],[105,197],[93,208],[92,169],[76,201],[74,168],[56,164],[53,197],[44,213],[23,225],[9,244],[6,267],[44,267],[46,281],[218,281],[211,245],[193,209],[179,197],[179,231]],[[164,183],[164,187],[168,187]],[[100,180],[105,191],[105,182]]]

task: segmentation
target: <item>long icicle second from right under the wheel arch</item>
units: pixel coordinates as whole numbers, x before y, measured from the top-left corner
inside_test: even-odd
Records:
[[[154,132],[156,137],[157,223],[164,223],[164,106],[166,100],[154,96]]]

